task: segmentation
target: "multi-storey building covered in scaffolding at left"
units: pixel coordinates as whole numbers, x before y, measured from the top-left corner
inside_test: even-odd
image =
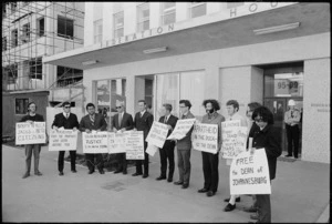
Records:
[[[83,27],[84,3],[2,3],[2,136],[14,135],[31,101],[44,118],[46,106],[65,100],[82,105],[83,71],[43,58],[83,47]]]

